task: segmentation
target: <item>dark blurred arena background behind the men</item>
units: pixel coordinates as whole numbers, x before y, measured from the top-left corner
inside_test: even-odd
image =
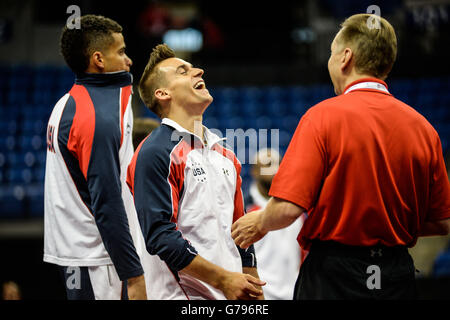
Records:
[[[327,71],[339,24],[376,5],[396,29],[397,61],[386,80],[450,150],[450,0],[384,1],[33,1],[0,2],[0,284],[22,299],[65,299],[56,268],[42,261],[46,125],[74,75],[59,53],[70,5],[124,28],[135,86],[151,48],[166,42],[205,70],[214,97],[204,122],[224,133],[278,129],[283,153],[300,117],[334,96]],[[374,13],[374,12],[369,12]],[[134,88],[136,117],[153,117]],[[255,148],[236,144],[243,192]],[[264,140],[264,141],[263,141]],[[447,162],[447,168],[449,167]],[[343,186],[345,187],[345,186]],[[364,191],[362,191],[364,192]],[[449,299],[449,237],[419,239],[410,249],[421,299]]]

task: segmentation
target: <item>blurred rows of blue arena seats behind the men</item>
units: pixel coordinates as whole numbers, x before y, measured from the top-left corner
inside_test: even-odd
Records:
[[[72,86],[74,75],[65,67],[0,66],[0,218],[26,219],[43,216],[43,185],[46,157],[46,125],[58,99]],[[450,141],[450,77],[389,79],[394,96],[423,114],[439,132],[444,150]],[[244,163],[243,190],[248,188],[248,160],[253,147],[268,135],[260,129],[279,129],[284,152],[298,120],[317,102],[333,97],[330,83],[293,86],[245,86],[210,88],[214,102],[205,124],[222,132],[254,129],[258,145],[247,140],[245,150],[235,152]],[[142,115],[155,117],[142,105]],[[250,130],[250,131],[249,131]],[[228,141],[230,143],[230,141]]]

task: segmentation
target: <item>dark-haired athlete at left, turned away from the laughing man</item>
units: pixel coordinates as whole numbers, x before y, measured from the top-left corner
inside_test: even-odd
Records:
[[[77,75],[47,127],[44,261],[61,266],[69,299],[146,299],[145,244],[126,168],[133,156],[131,59],[122,27],[103,16],[63,28]],[[123,295],[125,297],[125,295]]]

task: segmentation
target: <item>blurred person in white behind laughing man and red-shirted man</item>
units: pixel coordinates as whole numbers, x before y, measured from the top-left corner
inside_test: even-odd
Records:
[[[247,212],[261,210],[269,201],[269,189],[272,179],[281,161],[275,149],[261,149],[251,167],[252,183],[245,199]],[[270,232],[255,242],[255,254],[258,261],[258,274],[267,282],[263,287],[267,300],[291,300],[294,285],[306,251],[297,242],[305,215],[301,215],[290,226]]]

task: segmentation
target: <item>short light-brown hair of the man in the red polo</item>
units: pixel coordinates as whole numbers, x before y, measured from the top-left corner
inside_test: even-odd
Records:
[[[376,25],[370,28],[372,22]],[[386,19],[373,14],[355,14],[341,24],[337,42],[341,41],[353,50],[358,72],[380,79],[387,77],[397,56],[397,37]]]

